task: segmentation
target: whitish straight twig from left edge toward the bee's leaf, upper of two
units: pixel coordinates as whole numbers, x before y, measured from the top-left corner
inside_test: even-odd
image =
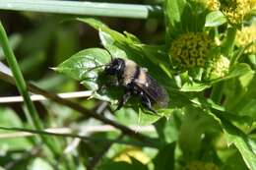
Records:
[[[93,91],[75,91],[75,92],[65,92],[57,94],[61,98],[80,98],[80,97],[89,97],[91,96]],[[32,94],[31,95],[32,101],[41,101],[47,100],[48,98],[44,97],[43,95],[39,94]],[[0,97],[0,103],[13,103],[13,102],[23,102],[24,98],[22,96],[4,96]]]

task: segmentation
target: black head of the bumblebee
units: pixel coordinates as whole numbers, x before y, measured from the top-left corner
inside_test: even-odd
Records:
[[[109,75],[116,75],[121,72],[124,67],[124,60],[121,58],[113,59],[109,64],[106,65],[104,71]]]

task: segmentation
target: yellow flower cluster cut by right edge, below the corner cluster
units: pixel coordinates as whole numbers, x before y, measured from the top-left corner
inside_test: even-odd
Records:
[[[247,45],[251,44],[246,48],[244,51],[245,53],[256,53],[256,25],[238,30],[235,41],[240,47],[246,47]]]

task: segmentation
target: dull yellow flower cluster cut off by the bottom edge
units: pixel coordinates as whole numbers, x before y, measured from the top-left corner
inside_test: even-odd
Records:
[[[220,170],[220,168],[214,163],[193,161],[182,168],[182,170]]]

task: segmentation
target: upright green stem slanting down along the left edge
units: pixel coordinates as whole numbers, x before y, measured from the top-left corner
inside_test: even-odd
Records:
[[[3,48],[6,60],[7,60],[9,66],[10,66],[10,69],[12,71],[12,74],[15,78],[15,83],[18,87],[19,92],[24,97],[25,105],[30,113],[30,114],[26,114],[27,119],[29,120],[30,124],[32,125],[32,127],[34,129],[43,130],[43,126],[38,117],[36,109],[32,103],[32,99],[28,92],[29,90],[28,90],[28,87],[24,80],[23,74],[20,70],[18,62],[14,55],[14,52],[13,52],[11,46],[9,45],[8,37],[7,37],[6,31],[5,31],[1,21],[0,21],[0,43]],[[53,151],[55,154],[57,153],[57,150],[56,150],[57,147],[55,147],[55,145],[50,141],[50,139],[41,137],[41,140],[48,145],[48,147],[50,148],[51,151]]]

